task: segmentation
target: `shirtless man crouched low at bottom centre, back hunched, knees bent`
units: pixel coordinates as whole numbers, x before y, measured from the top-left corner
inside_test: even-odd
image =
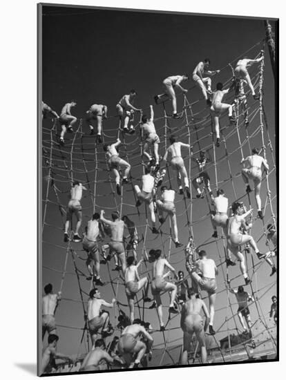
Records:
[[[135,319],[133,325],[128,325],[124,328],[118,342],[118,350],[128,368],[138,368],[146,350],[153,345],[152,336],[149,332],[146,332],[144,326],[137,322],[140,321]],[[148,342],[148,346],[140,339],[137,339],[142,335]]]

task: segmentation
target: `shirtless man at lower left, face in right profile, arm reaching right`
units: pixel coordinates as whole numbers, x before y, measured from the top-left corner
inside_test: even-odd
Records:
[[[108,325],[109,313],[101,312],[101,307],[113,307],[115,305],[115,298],[108,303],[104,301],[97,288],[90,290],[88,299],[88,330],[90,333],[91,341],[93,345],[97,338],[98,330],[102,327],[102,338],[112,334],[112,329]]]

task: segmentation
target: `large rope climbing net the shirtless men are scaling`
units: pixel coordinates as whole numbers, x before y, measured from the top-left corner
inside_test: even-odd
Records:
[[[247,53],[252,50],[256,50],[260,46],[261,41],[249,48]],[[233,60],[235,62],[236,59]],[[232,63],[233,63],[232,62]],[[222,70],[227,70],[229,64],[227,64]],[[214,323],[218,326],[216,328],[217,334],[227,333],[229,337],[229,349],[227,351],[220,350],[218,341],[215,338],[213,344],[217,346],[220,350],[221,359],[220,361],[225,361],[224,355],[231,354],[231,340],[230,334],[233,329],[236,333],[240,332],[240,327],[238,327],[236,319],[237,313],[233,309],[233,303],[231,300],[233,296],[229,294],[227,289],[227,283],[234,283],[241,281],[242,276],[240,275],[238,265],[235,269],[229,269],[225,265],[225,239],[221,235],[218,239],[213,239],[211,236],[211,222],[210,222],[210,211],[211,211],[211,201],[207,192],[204,190],[204,200],[197,200],[194,198],[191,180],[198,175],[197,167],[191,165],[191,149],[193,150],[193,155],[196,157],[201,149],[208,152],[209,157],[211,155],[211,162],[207,166],[207,171],[211,177],[211,189],[223,188],[227,193],[229,202],[234,200],[244,200],[247,201],[246,193],[238,193],[237,189],[241,188],[242,178],[240,178],[240,170],[238,170],[238,161],[244,157],[244,153],[249,155],[249,150],[252,144],[257,146],[260,142],[260,146],[263,149],[263,156],[271,157],[271,162],[269,163],[269,172],[265,175],[262,182],[262,188],[266,188],[266,200],[265,208],[263,210],[264,222],[254,218],[254,227],[256,235],[254,239],[259,241],[265,237],[266,229],[265,225],[269,222],[276,226],[276,196],[271,194],[271,187],[274,187],[276,180],[276,165],[274,160],[274,151],[269,137],[269,128],[267,125],[267,119],[265,115],[265,108],[263,106],[263,70],[264,61],[261,62],[260,68],[256,70],[253,68],[250,70],[252,83],[256,92],[260,93],[259,102],[249,102],[248,112],[249,112],[249,126],[245,129],[244,117],[241,106],[236,107],[236,114],[238,116],[237,122],[234,126],[230,126],[227,122],[227,115],[222,115],[220,117],[220,133],[222,136],[222,144],[220,148],[217,148],[214,144],[213,129],[211,127],[211,117],[209,115],[209,109],[205,108],[203,100],[199,99],[194,102],[189,101],[191,95],[198,97],[199,90],[194,90],[191,87],[187,95],[179,95],[178,100],[182,100],[182,119],[181,120],[171,120],[166,107],[169,106],[168,103],[164,104],[164,107],[160,109],[160,106],[155,108],[155,115],[161,114],[162,116],[154,120],[155,127],[158,135],[160,136],[160,155],[164,155],[164,151],[168,146],[167,140],[171,133],[178,137],[179,141],[187,142],[190,145],[189,152],[184,154],[182,151],[184,163],[187,168],[187,173],[189,175],[189,189],[191,191],[191,199],[189,200],[185,196],[180,196],[178,193],[175,196],[175,207],[176,215],[178,220],[178,225],[183,228],[179,229],[179,239],[182,243],[187,245],[187,241],[193,238],[196,241],[198,247],[206,247],[211,253],[212,257],[216,260],[216,263],[222,274],[222,282],[218,283],[218,297],[224,299],[224,307],[220,307],[216,310],[216,316]],[[225,83],[230,84],[231,79],[227,79]],[[191,94],[191,95],[190,95]],[[248,96],[249,91],[245,94]],[[232,98],[232,99],[231,99]],[[227,96],[226,102],[231,103],[233,101],[233,93]],[[203,105],[202,105],[203,104]],[[141,115],[142,116],[142,115]],[[141,120],[140,116],[140,120]],[[264,125],[265,123],[265,125]],[[84,186],[87,187],[87,191],[82,199],[83,207],[83,222],[82,229],[87,224],[92,213],[99,211],[100,209],[106,210],[107,218],[110,218],[110,213],[112,210],[117,210],[120,212],[120,216],[126,215],[131,220],[135,221],[138,234],[142,236],[142,239],[137,247],[138,260],[140,258],[144,259],[143,265],[141,265],[139,272],[141,276],[147,275],[149,281],[151,280],[151,264],[146,261],[146,254],[149,249],[160,248],[164,251],[165,256],[170,260],[171,264],[175,266],[175,269],[182,269],[184,267],[184,248],[175,249],[172,244],[171,236],[171,224],[167,226],[166,223],[160,227],[160,234],[151,234],[151,227],[149,225],[149,211],[143,209],[143,206],[135,208],[135,193],[134,184],[140,183],[140,178],[142,175],[142,137],[139,132],[139,124],[135,126],[137,133],[135,135],[124,135],[123,132],[119,132],[118,128],[113,128],[117,124],[117,119],[115,117],[108,117],[106,124],[104,124],[104,142],[115,142],[116,138],[121,135],[121,140],[123,145],[120,147],[120,157],[124,158],[127,162],[131,164],[131,183],[124,184],[121,188],[122,195],[117,196],[115,191],[115,181],[113,174],[108,170],[108,164],[104,151],[102,149],[102,144],[96,144],[95,138],[93,136],[87,135],[85,133],[85,124],[83,119],[79,119],[79,124],[75,129],[75,133],[70,136],[66,135],[66,144],[64,147],[60,146],[57,140],[57,129],[59,127],[55,124],[51,128],[47,128],[46,124],[43,128],[43,178],[46,178],[46,189],[43,196],[43,258],[44,258],[44,279],[48,280],[50,274],[53,272],[53,278],[59,276],[60,289],[63,291],[63,298],[59,309],[66,307],[68,303],[82,304],[82,310],[84,316],[86,316],[86,301],[88,299],[88,292],[93,287],[93,282],[86,282],[86,267],[84,266],[84,261],[86,259],[86,253],[82,250],[82,244],[78,243],[63,243],[63,225],[65,221],[66,205],[68,203],[68,193],[70,191],[70,184],[73,180],[79,180]],[[265,145],[265,126],[267,133],[267,144]],[[192,146],[192,148],[191,148]],[[235,149],[230,151],[230,146],[235,146]],[[247,152],[247,153],[246,153]],[[164,177],[163,184],[173,187],[177,190],[177,182],[175,180],[175,173],[169,168],[166,168],[166,175]],[[240,185],[238,186],[238,183]],[[53,188],[53,191],[50,191]],[[227,191],[226,191],[227,190]],[[232,191],[231,191],[232,190]],[[273,191],[274,189],[272,189]],[[263,192],[262,192],[263,193]],[[249,198],[250,201],[250,198]],[[59,209],[59,213],[57,213]],[[144,210],[144,211],[143,211]],[[61,218],[59,218],[59,216]],[[158,220],[156,221],[158,227]],[[75,227],[75,226],[73,226]],[[199,231],[205,230],[205,234],[201,234]],[[51,240],[51,234],[55,233],[55,238]],[[205,236],[205,240],[198,241]],[[70,238],[73,234],[70,234]],[[198,240],[197,240],[198,239]],[[104,239],[102,244],[106,244],[108,238]],[[56,263],[49,260],[47,252],[51,252],[55,255],[57,252]],[[217,252],[214,254],[213,252]],[[141,257],[140,257],[141,252]],[[54,257],[54,256],[53,256]],[[64,265],[62,267],[56,267],[60,265],[60,259],[64,258]],[[265,260],[259,261],[258,263],[254,260],[254,257],[250,256],[248,258],[248,272],[252,273],[252,278],[256,278],[256,281],[251,283],[251,292],[254,294],[256,305],[256,320],[254,321],[254,326],[260,326],[257,335],[267,333],[268,338],[271,340],[273,347],[276,349],[275,339],[273,334],[271,334],[269,325],[269,319],[265,318],[265,310],[261,305],[261,301],[264,300],[265,296],[269,297],[269,291],[274,290],[274,285],[276,282],[271,282],[266,287],[263,287],[263,278],[258,276],[262,272],[262,268],[265,267]],[[250,261],[250,263],[249,263]],[[102,293],[106,301],[111,301],[114,296],[119,301],[115,313],[113,315],[115,318],[125,312],[128,314],[128,307],[126,305],[126,297],[124,294],[124,279],[122,278],[121,272],[113,272],[113,259],[111,262],[106,263],[106,265],[101,265],[101,276],[104,278],[105,285],[102,287]],[[252,271],[252,272],[251,272]],[[73,296],[65,296],[65,292],[68,293],[68,289],[65,288],[65,281],[68,276],[68,282],[73,283],[73,286],[78,285],[78,296],[73,294]],[[76,278],[77,279],[76,279]],[[258,277],[260,285],[258,285]],[[187,277],[186,277],[187,278]],[[202,294],[204,296],[204,293]],[[222,298],[224,297],[224,298]],[[166,308],[168,303],[168,297],[163,297],[164,303],[164,314],[166,314]],[[207,300],[206,300],[207,301]],[[137,300],[135,302],[136,313],[139,316],[144,316],[145,321],[149,318],[154,317],[151,310],[146,309],[142,297],[138,294]],[[57,311],[58,313],[59,311]],[[225,316],[222,316],[225,312]],[[152,313],[152,314],[151,314]],[[112,314],[112,312],[111,312]],[[167,315],[167,314],[166,314]],[[166,315],[164,319],[166,319]],[[56,315],[57,318],[57,315]],[[80,316],[79,316],[80,318]],[[112,321],[112,319],[111,319]],[[220,323],[223,321],[222,323]],[[77,354],[82,350],[82,352],[88,350],[90,339],[88,336],[88,330],[86,329],[86,321],[83,318],[82,321],[78,321],[79,327],[74,327],[74,325],[68,325],[65,323],[59,324],[59,331],[61,328],[67,329],[68,334],[73,334],[73,330],[77,329],[82,332],[82,338],[79,341],[79,347],[77,348]],[[82,328],[84,326],[84,328]],[[162,355],[161,363],[164,363],[164,357],[169,357],[171,363],[178,363],[178,358],[173,358],[171,346],[174,343],[173,330],[180,330],[180,314],[179,316],[169,317],[166,323],[166,331],[159,332],[157,325],[153,326],[153,337],[154,346],[163,347],[164,354]],[[254,330],[258,327],[254,327]],[[225,329],[225,330],[224,330]],[[86,334],[86,339],[84,336]],[[118,336],[120,331],[115,328],[115,334]],[[255,334],[254,334],[255,335]],[[263,335],[264,336],[264,335]],[[113,336],[111,336],[111,339]],[[267,339],[268,339],[267,338]],[[262,339],[261,336],[259,339]],[[257,338],[256,341],[259,341]],[[178,340],[175,339],[175,341]],[[182,341],[179,342],[182,345]],[[84,345],[83,348],[82,345]],[[194,345],[196,347],[196,344]],[[197,350],[197,348],[196,348]]]

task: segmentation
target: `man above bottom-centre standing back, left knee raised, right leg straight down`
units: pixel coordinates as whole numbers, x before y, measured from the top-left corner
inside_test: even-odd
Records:
[[[199,259],[195,263],[192,278],[200,285],[200,289],[205,290],[209,296],[209,334],[216,334],[213,330],[213,319],[215,314],[216,303],[216,276],[218,275],[218,268],[212,258],[207,258],[206,251],[199,251]],[[198,274],[199,273],[199,274]],[[200,274],[202,276],[200,276]]]

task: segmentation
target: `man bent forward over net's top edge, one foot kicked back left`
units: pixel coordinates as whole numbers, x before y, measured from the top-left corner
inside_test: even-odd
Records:
[[[173,118],[180,119],[180,116],[177,113],[177,98],[175,97],[175,88],[179,88],[182,93],[186,94],[188,90],[182,88],[181,83],[184,80],[189,79],[189,75],[171,75],[171,77],[167,77],[163,81],[164,93],[161,95],[155,95],[154,100],[155,104],[158,104],[158,100],[164,99],[172,99],[173,106]],[[165,101],[165,100],[164,100]]]

